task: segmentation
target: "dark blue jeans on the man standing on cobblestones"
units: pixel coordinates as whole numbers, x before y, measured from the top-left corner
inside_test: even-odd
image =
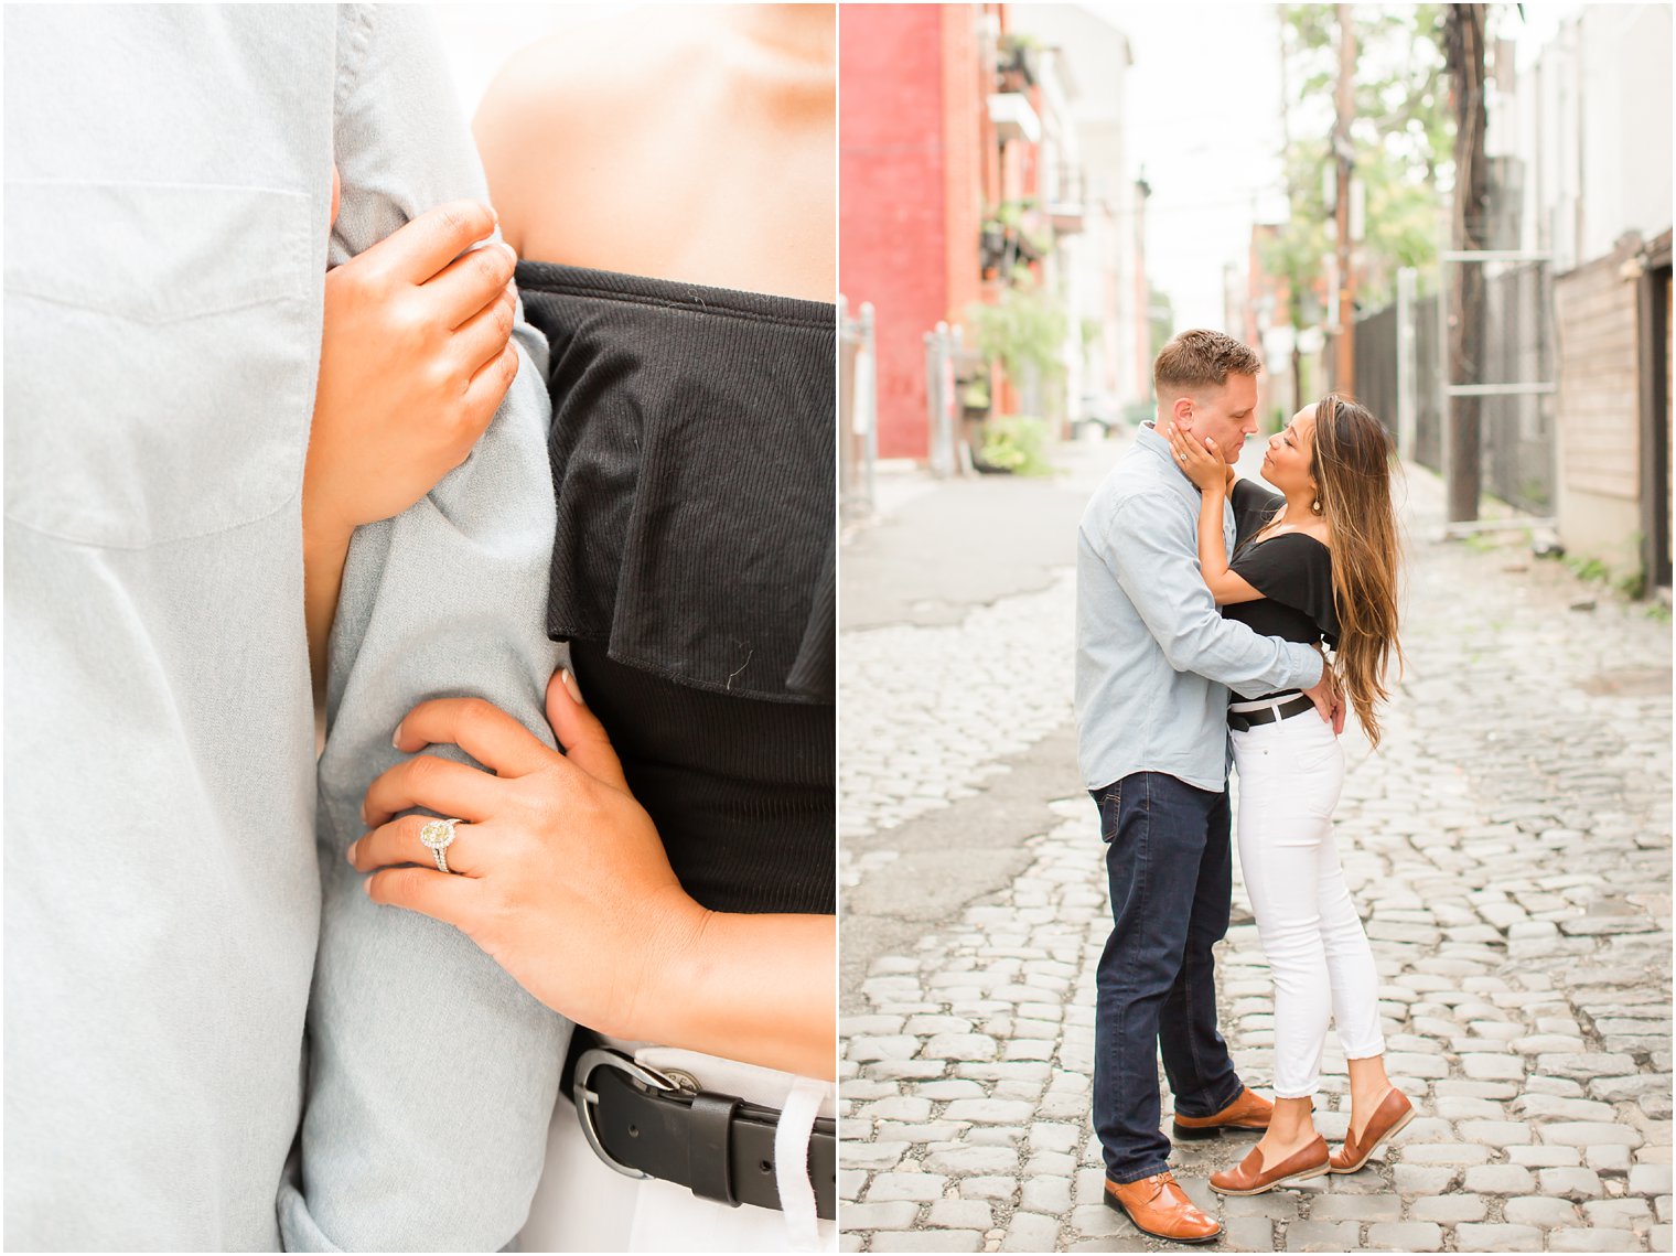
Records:
[[[1161,1172],[1158,1055],[1185,1117],[1244,1088],[1217,1031],[1210,949],[1229,931],[1229,793],[1138,771],[1093,791],[1106,842],[1113,931],[1094,1003],[1094,1132],[1113,1182]]]

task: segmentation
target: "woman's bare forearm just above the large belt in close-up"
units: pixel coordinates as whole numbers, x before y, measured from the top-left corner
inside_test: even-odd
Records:
[[[706,912],[665,978],[632,1036],[836,1077],[836,917]]]

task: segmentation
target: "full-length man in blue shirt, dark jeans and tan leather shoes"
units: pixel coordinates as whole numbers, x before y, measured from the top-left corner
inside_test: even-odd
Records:
[[[1182,332],[1153,364],[1156,421],[1232,465],[1257,431],[1260,369],[1229,335]],[[1217,1033],[1212,947],[1232,894],[1229,689],[1301,688],[1322,718],[1341,718],[1317,651],[1217,612],[1198,574],[1197,520],[1198,490],[1145,424],[1083,515],[1076,563],[1078,756],[1099,807],[1115,922],[1094,1016],[1104,1199],[1180,1243],[1210,1243],[1222,1227],[1170,1176],[1160,1050],[1178,1135],[1265,1129],[1272,1107],[1240,1083]],[[1232,552],[1232,510],[1223,532]]]

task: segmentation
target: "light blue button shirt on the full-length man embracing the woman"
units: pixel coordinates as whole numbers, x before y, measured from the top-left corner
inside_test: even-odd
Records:
[[[1222,525],[1234,547],[1234,510]],[[1321,679],[1309,646],[1223,619],[1198,570],[1198,490],[1143,426],[1076,533],[1076,731],[1083,783],[1161,771],[1229,776],[1229,689],[1259,698]]]

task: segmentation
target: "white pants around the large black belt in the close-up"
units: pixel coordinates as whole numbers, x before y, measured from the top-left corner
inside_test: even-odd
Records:
[[[627,1045],[623,1045],[625,1050]],[[719,1060],[674,1046],[630,1050],[650,1068],[675,1068],[704,1090],[739,1095],[781,1108],[816,1107],[835,1117],[838,1088],[831,1082],[779,1073],[773,1068]],[[793,1098],[798,1092],[798,1098]],[[783,1186],[781,1194],[788,1191]],[[810,1201],[813,1207],[813,1201]],[[836,1251],[838,1226],[741,1204],[727,1207],[699,1199],[684,1186],[634,1179],[605,1165],[588,1145],[577,1108],[565,1097],[553,1107],[546,1135],[546,1165],[530,1221],[518,1234],[518,1251]]]

